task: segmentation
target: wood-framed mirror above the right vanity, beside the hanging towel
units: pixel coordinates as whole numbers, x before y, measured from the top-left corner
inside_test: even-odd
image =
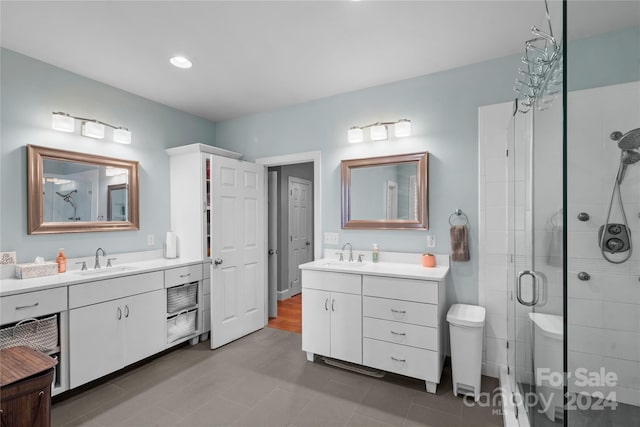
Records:
[[[343,160],[342,228],[428,229],[429,153]]]

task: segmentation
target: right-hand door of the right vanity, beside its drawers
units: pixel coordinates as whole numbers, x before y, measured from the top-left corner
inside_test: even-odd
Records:
[[[332,292],[330,309],[331,357],[362,364],[362,296]]]

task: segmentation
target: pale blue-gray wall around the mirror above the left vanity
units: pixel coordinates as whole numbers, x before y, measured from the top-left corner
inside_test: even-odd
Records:
[[[169,229],[169,159],[165,149],[213,144],[215,124],[86,77],[0,50],[1,163],[0,250],[17,251],[18,262],[162,248]],[[85,138],[51,129],[51,112],[96,118],[129,128],[131,145]],[[140,162],[140,230],[27,235],[26,145],[117,157]],[[155,245],[147,245],[147,235]]]

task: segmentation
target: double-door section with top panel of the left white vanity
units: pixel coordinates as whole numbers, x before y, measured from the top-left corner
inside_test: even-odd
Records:
[[[165,348],[162,271],[69,286],[70,386]]]

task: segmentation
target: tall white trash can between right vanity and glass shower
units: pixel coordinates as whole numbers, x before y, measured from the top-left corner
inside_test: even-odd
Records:
[[[453,304],[447,313],[451,335],[453,394],[480,397],[482,338],[485,309],[477,305]]]

